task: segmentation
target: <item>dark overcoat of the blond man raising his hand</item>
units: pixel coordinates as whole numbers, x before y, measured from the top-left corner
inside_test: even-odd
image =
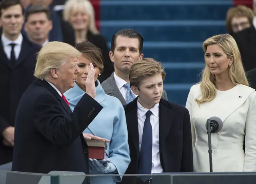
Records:
[[[17,108],[12,170],[89,174],[82,132],[101,110],[96,100],[84,94],[72,113],[47,81],[35,79]]]

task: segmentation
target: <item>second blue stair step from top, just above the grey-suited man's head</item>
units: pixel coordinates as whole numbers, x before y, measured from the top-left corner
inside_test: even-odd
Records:
[[[148,42],[198,42],[226,33],[224,21],[102,21],[101,34],[111,41],[118,30],[138,31]]]

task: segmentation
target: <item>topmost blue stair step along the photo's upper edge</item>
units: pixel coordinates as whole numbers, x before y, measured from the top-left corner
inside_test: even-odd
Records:
[[[102,0],[100,12],[101,20],[223,20],[232,6],[232,0]]]

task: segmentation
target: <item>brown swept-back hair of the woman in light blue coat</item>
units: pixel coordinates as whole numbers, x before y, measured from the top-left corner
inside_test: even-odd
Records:
[[[90,60],[93,64],[95,64],[98,68],[100,68],[100,72],[103,71],[103,57],[100,48],[85,40],[76,44],[76,49],[81,52],[83,56],[88,58],[88,60]]]

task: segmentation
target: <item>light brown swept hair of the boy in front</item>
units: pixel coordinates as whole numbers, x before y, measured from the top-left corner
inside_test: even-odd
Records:
[[[153,58],[144,58],[132,65],[129,74],[130,86],[139,88],[142,80],[157,74],[161,74],[164,80],[166,73],[162,64]]]

